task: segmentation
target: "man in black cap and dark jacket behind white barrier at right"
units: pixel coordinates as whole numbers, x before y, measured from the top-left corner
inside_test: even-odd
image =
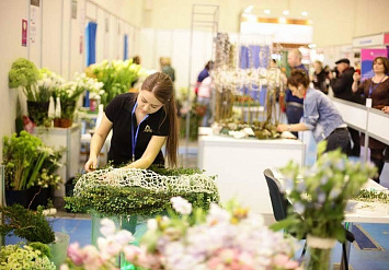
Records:
[[[354,102],[358,104],[364,104],[364,99],[359,94],[354,94],[352,90],[353,85],[353,74],[355,72],[354,68],[350,66],[350,60],[343,58],[336,62],[337,74],[336,78],[330,72],[330,85],[334,93],[334,96],[348,102]],[[361,142],[359,142],[359,131],[348,127],[348,132],[352,138],[352,149],[350,155],[359,156],[361,155]]]

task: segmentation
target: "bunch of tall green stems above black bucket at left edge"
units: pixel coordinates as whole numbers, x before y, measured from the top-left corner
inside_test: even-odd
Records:
[[[3,138],[3,162],[5,165],[5,188],[24,190],[32,186],[58,187],[60,177],[55,174],[61,166],[64,150],[54,151],[42,140],[22,130]]]

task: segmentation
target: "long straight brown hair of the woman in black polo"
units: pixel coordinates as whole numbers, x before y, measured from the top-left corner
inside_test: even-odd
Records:
[[[167,157],[168,164],[171,167],[176,166],[176,151],[179,143],[179,129],[176,120],[176,108],[174,98],[173,82],[169,75],[162,72],[156,72],[148,78],[141,85],[141,90],[146,90],[155,94],[158,101],[163,104],[165,118],[162,120],[169,121],[169,136],[167,140]],[[161,122],[161,125],[162,125]]]

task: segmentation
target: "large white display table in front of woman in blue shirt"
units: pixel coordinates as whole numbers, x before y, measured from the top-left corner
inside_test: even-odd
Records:
[[[305,151],[297,140],[204,136],[198,139],[197,165],[207,175],[217,175],[221,202],[237,198],[254,213],[272,214],[263,171],[285,166],[290,160],[304,165]]]

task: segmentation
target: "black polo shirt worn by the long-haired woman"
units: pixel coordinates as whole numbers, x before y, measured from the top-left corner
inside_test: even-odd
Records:
[[[136,103],[137,94],[125,93],[117,95],[105,108],[105,115],[113,122],[113,133],[108,161],[113,165],[126,165],[133,159],[131,125],[134,136],[137,130],[136,116],[131,111]],[[139,126],[138,138],[135,146],[135,160],[139,160],[145,153],[152,136],[169,136],[169,119],[165,117],[163,107],[157,113],[150,114]],[[164,165],[164,159],[159,151],[153,164]]]

